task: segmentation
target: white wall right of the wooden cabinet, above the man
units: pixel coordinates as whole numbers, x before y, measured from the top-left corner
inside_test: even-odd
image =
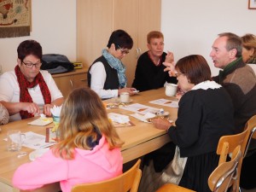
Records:
[[[212,75],[218,74],[209,56],[218,33],[256,34],[256,10],[247,9],[247,4],[247,0],[162,0],[165,48],[174,52],[176,61],[185,55],[203,55]]]

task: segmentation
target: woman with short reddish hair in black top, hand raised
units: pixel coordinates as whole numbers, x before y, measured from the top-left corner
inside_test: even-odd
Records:
[[[166,81],[177,84],[175,77],[165,72],[163,62],[173,61],[172,52],[164,52],[164,35],[158,31],[148,32],[148,51],[144,52],[137,61],[135,79],[132,86],[137,90],[153,90],[163,87]]]

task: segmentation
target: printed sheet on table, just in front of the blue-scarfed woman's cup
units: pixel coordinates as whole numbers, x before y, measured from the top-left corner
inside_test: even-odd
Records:
[[[126,107],[122,107],[122,109],[132,111],[132,112],[135,112],[135,113],[141,113],[141,114],[157,113],[160,110],[159,108],[151,108],[149,106],[142,105],[142,104],[139,104],[139,103],[134,103],[134,104],[128,105]]]

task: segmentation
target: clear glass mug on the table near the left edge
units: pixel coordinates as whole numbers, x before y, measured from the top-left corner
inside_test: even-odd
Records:
[[[26,135],[21,133],[20,130],[7,131],[7,150],[19,151],[25,138]]]

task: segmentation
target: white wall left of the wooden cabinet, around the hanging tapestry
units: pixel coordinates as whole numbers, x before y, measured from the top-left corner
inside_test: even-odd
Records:
[[[1,30],[1,29],[0,29]],[[3,72],[13,70],[17,47],[26,39],[35,39],[43,53],[67,55],[76,60],[76,1],[32,0],[32,32],[20,38],[0,38],[0,64]]]

